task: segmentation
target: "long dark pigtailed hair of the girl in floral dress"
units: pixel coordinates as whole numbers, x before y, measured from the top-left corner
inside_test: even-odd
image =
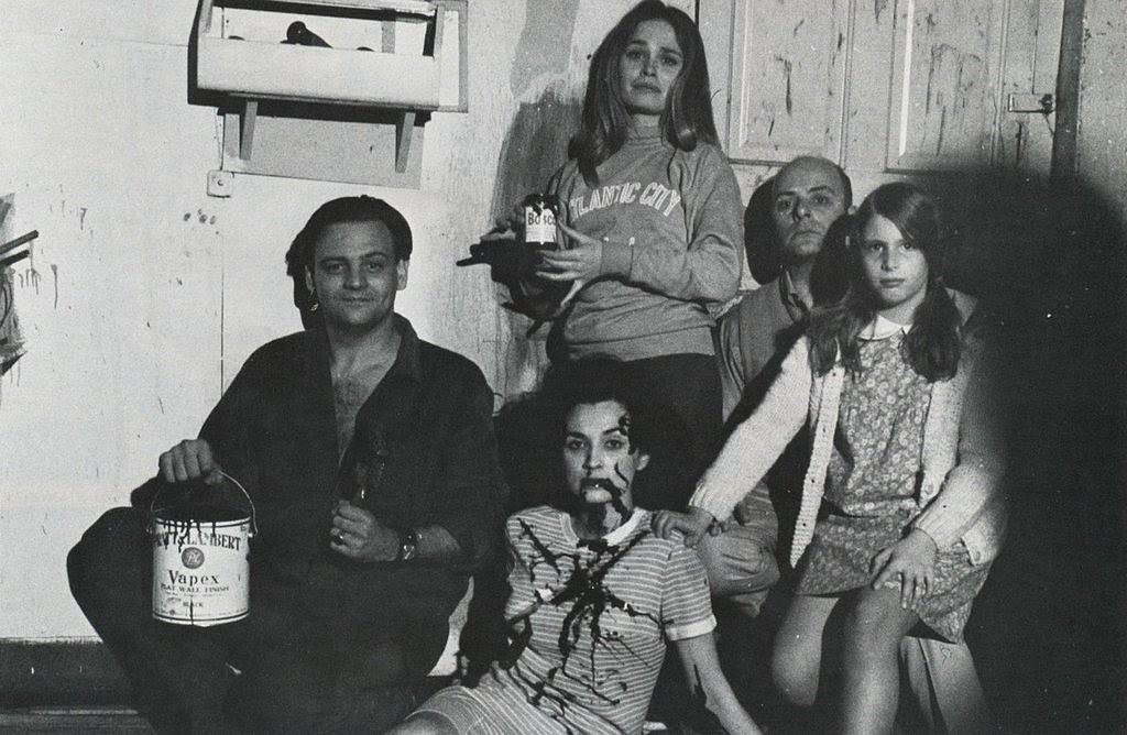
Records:
[[[838,301],[819,307],[810,318],[810,365],[825,374],[841,356],[852,372],[861,370],[859,339],[876,318],[878,304],[864,282],[861,242],[866,224],[879,214],[896,225],[905,241],[923,251],[928,260],[928,285],[916,307],[912,328],[904,340],[904,358],[929,381],[955,375],[961,354],[962,319],[943,287],[942,236],[934,202],[912,184],[879,186],[849,221],[844,253],[845,293]]]

